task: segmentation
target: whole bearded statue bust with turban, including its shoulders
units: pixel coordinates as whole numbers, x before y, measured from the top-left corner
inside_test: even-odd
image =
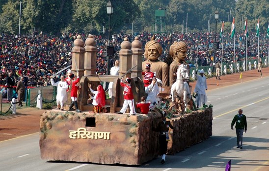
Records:
[[[159,57],[162,53],[161,44],[155,41],[155,35],[151,38],[151,41],[145,45],[145,58],[146,61],[142,63],[142,68],[146,68],[146,64],[151,65],[151,71],[156,72],[156,77],[162,81],[163,86],[169,85],[169,66],[168,64],[161,62]]]

